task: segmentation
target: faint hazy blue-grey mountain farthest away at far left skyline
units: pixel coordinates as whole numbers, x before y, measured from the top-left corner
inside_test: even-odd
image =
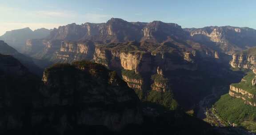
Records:
[[[21,51],[28,39],[40,39],[45,38],[50,34],[50,30],[46,28],[36,29],[32,31],[30,28],[22,28],[6,32],[3,36],[0,36],[0,40],[4,40],[10,46]]]

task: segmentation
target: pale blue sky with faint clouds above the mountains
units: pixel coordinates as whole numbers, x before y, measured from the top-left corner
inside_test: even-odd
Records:
[[[0,35],[29,27],[58,28],[110,18],[160,20],[182,28],[237,26],[256,29],[256,0],[0,0]]]

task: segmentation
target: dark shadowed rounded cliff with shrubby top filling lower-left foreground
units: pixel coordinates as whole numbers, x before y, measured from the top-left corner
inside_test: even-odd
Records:
[[[63,134],[77,127],[84,126],[86,130],[90,125],[120,131],[128,124],[143,122],[140,100],[115,71],[87,61],[56,64],[44,71],[41,85],[34,81],[29,87],[32,81],[29,82],[26,68],[8,57],[11,56],[0,55],[0,80],[8,82],[0,83],[6,85],[0,93],[0,109],[6,112],[0,118],[2,131],[28,128]],[[15,79],[16,87],[3,77],[12,76],[6,70],[17,74],[10,79],[25,78]],[[26,84],[24,87],[21,81]]]

